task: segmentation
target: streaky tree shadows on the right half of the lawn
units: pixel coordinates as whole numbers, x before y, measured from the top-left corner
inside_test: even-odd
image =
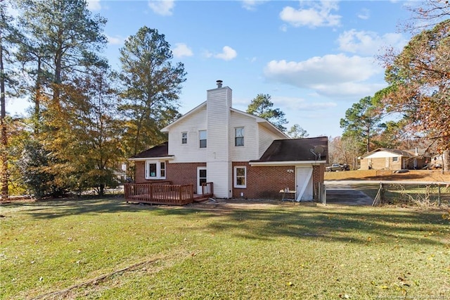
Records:
[[[186,211],[172,210],[158,213],[188,215]],[[295,211],[239,208],[224,215],[226,218],[214,220],[205,230],[236,232],[236,237],[262,240],[297,237],[323,242],[380,242],[392,243],[393,246],[406,242],[450,246],[450,222],[442,218],[442,211],[361,207],[330,211],[321,207],[302,209],[300,206]]]

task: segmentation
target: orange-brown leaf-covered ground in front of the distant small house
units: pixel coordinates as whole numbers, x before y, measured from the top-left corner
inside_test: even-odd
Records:
[[[354,170],[326,172],[325,180],[405,180],[450,183],[450,172],[443,172],[442,170],[409,170],[407,173],[393,173],[392,170]]]

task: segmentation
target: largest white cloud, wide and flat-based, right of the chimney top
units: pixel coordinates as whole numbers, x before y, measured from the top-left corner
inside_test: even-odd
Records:
[[[304,89],[326,96],[371,95],[385,84],[368,83],[383,68],[371,57],[326,55],[307,61],[270,61],[264,69],[266,80]]]

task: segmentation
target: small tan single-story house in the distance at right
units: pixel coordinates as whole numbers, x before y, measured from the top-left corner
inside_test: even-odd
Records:
[[[425,151],[378,148],[359,156],[361,170],[420,169],[430,161]]]

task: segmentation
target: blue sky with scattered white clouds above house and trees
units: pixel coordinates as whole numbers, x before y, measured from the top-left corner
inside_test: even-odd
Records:
[[[89,9],[107,18],[105,56],[118,69],[124,40],[146,25],[172,47],[187,72],[180,95],[186,113],[206,99],[216,80],[233,89],[245,111],[270,94],[310,137],[342,134],[345,111],[386,86],[375,56],[401,49],[398,30],[411,15],[406,1],[106,1]],[[10,111],[15,107],[10,106]]]

